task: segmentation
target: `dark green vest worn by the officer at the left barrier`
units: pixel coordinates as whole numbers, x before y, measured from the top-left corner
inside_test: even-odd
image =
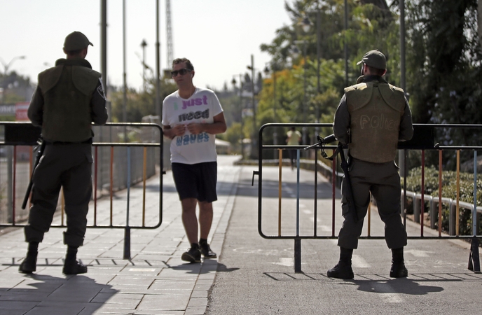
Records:
[[[48,141],[82,142],[92,137],[90,99],[100,73],[60,64],[39,74],[43,94],[42,136]]]

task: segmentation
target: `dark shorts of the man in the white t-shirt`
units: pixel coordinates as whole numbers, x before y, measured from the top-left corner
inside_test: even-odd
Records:
[[[179,200],[186,198],[195,198],[200,202],[218,200],[216,194],[217,162],[172,163],[171,166]]]

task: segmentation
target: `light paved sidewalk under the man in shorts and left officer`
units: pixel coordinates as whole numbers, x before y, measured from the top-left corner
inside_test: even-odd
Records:
[[[233,167],[236,159],[220,156],[218,160],[218,201],[214,202],[209,235],[218,256],[241,169]],[[122,259],[124,230],[89,228],[77,255],[88,265],[88,273],[65,276],[62,274],[66,251],[62,241],[64,229],[51,228],[39,246],[36,272],[21,274],[18,266],[27,251],[23,230],[14,228],[1,235],[0,315],[204,314],[208,290],[219,264],[216,259],[201,264],[188,264],[180,259],[190,245],[181,222],[172,174],[167,172],[163,181],[163,223],[155,230],[131,230],[131,260]],[[158,209],[158,194],[158,179],[149,180],[146,207]],[[125,221],[125,205],[122,206],[125,195],[126,192],[116,194],[113,209],[116,223]],[[105,199],[97,202],[99,212],[110,207],[108,198]],[[132,220],[139,217],[141,203],[142,188],[132,188]]]

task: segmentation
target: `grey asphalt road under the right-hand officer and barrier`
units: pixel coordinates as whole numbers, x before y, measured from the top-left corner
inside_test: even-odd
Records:
[[[408,278],[388,276],[391,252],[384,240],[360,240],[354,251],[354,279],[326,277],[338,261],[336,239],[301,241],[302,273],[295,273],[294,241],[263,239],[258,231],[258,186],[243,167],[206,314],[481,314],[482,274],[467,269],[469,244],[409,240]],[[277,234],[276,167],[263,167],[263,227]],[[301,171],[300,235],[331,235],[331,186],[319,177],[317,220],[313,218],[312,172]],[[296,172],[283,169],[282,233],[296,232]],[[337,195],[339,197],[339,195]],[[336,200],[336,228],[342,221]],[[371,235],[383,235],[376,210]],[[408,235],[420,228],[408,222]],[[425,232],[428,233],[429,231]],[[364,229],[364,235],[367,227]]]

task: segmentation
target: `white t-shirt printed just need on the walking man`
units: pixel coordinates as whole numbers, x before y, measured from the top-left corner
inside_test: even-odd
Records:
[[[211,124],[214,123],[214,116],[222,112],[219,99],[212,90],[196,87],[188,99],[181,98],[177,91],[164,99],[162,124],[171,128],[180,124]],[[191,134],[186,129],[183,136],[172,139],[171,162],[196,164],[216,161],[215,138],[214,134]]]

